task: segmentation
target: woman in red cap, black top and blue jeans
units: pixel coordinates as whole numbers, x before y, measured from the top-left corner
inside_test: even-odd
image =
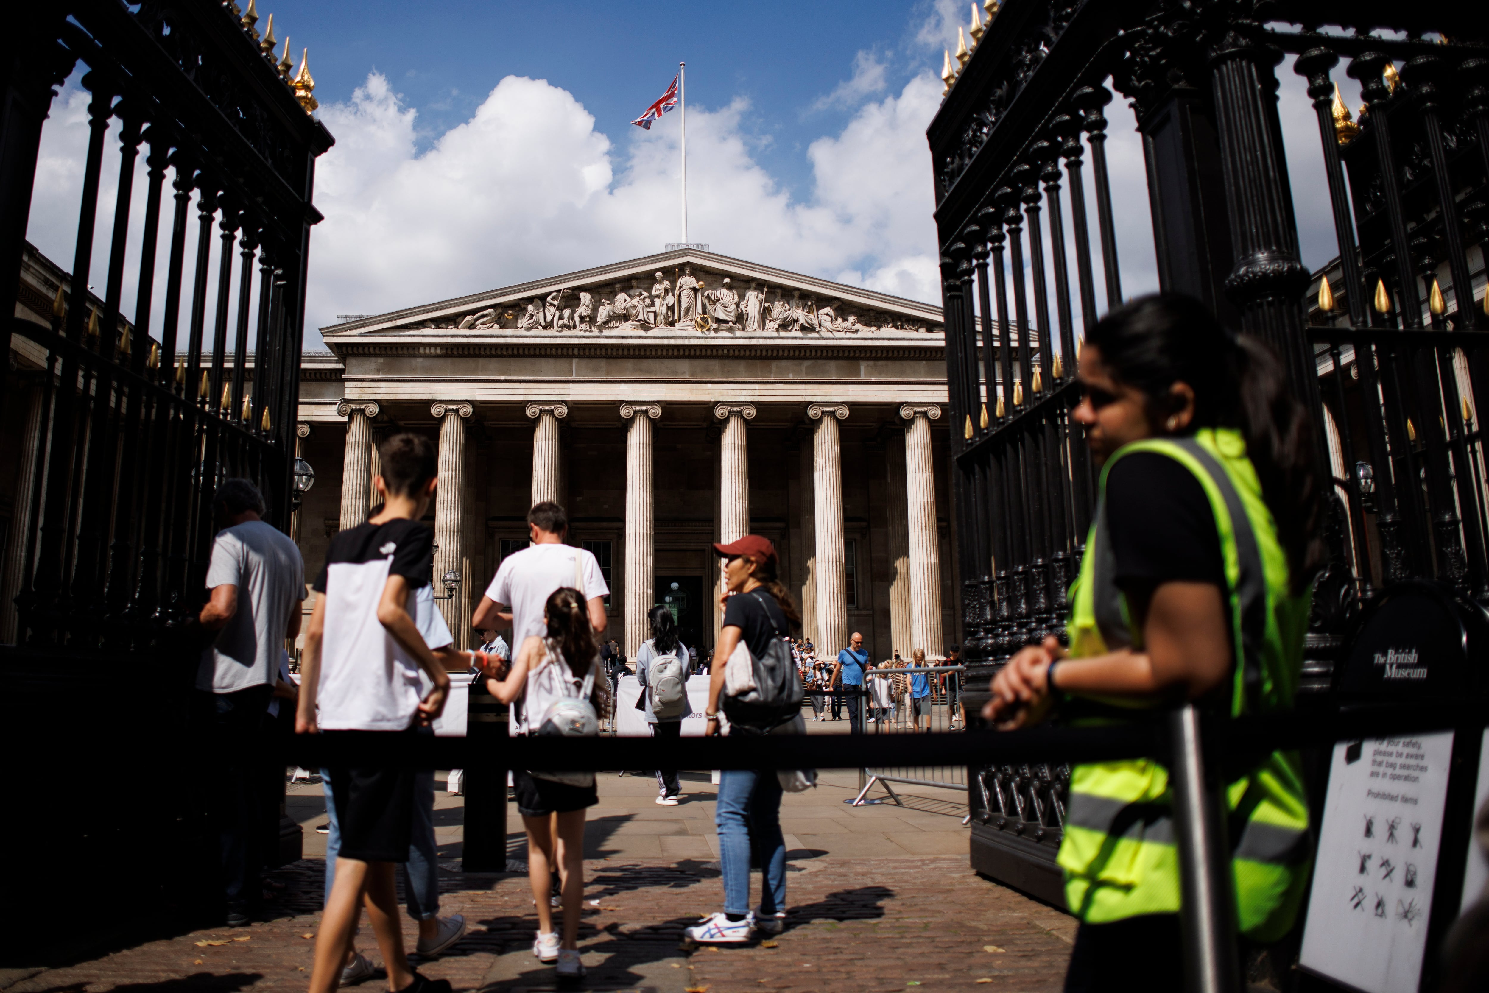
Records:
[[[724,627],[709,671],[709,727],[719,732],[719,703],[724,670],[734,648],[744,642],[756,657],[764,657],[773,639],[789,637],[801,615],[791,594],[776,579],[776,546],[759,534],[746,534],[728,545],[715,545],[724,558]],[[797,713],[780,728],[785,734],[804,734],[807,725]],[[780,834],[780,780],[774,770],[724,770],[719,773],[718,804],[713,823],[719,829],[719,865],[724,874],[724,910],[697,927],[689,939],[700,944],[739,944],[752,932],[779,935],[786,923],[786,840]],[[750,850],[759,852],[762,866],[761,901],[749,908]]]

